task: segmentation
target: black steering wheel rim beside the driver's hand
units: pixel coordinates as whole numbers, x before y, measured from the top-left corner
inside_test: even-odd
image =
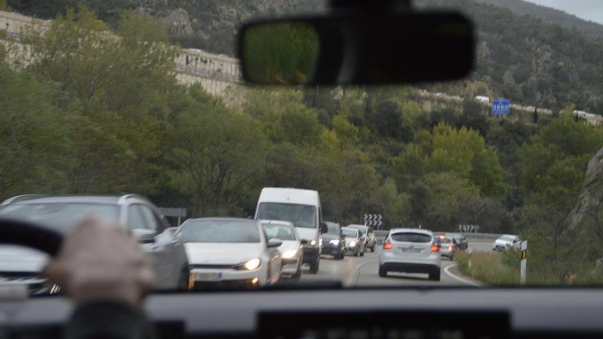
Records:
[[[63,236],[58,231],[29,221],[0,217],[0,244],[21,245],[54,257],[62,241]]]

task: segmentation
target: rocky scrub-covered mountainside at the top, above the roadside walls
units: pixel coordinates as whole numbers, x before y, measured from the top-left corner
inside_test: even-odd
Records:
[[[54,16],[76,2],[30,0],[27,6],[20,6],[23,1],[11,1],[20,12],[37,16]],[[83,0],[79,3],[92,8],[109,23],[116,21],[121,10],[160,16],[169,24],[173,42],[227,55],[234,54],[236,27],[251,17],[321,12],[325,8],[324,0]],[[431,89],[464,96],[506,97],[516,103],[555,110],[573,104],[579,110],[603,114],[600,89],[603,64],[598,60],[603,55],[603,39],[582,34],[596,35],[603,26],[519,0],[415,3],[419,7],[460,8],[473,18],[478,29],[478,67],[470,82],[438,84]],[[576,26],[582,32],[562,25]]]

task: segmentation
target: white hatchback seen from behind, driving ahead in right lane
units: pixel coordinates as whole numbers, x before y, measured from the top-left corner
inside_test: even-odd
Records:
[[[392,229],[379,255],[379,275],[388,272],[428,273],[440,281],[440,247],[427,229]]]

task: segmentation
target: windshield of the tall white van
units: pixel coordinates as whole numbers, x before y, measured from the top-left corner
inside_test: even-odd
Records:
[[[294,203],[260,203],[259,219],[291,221],[295,227],[316,228],[316,208]]]

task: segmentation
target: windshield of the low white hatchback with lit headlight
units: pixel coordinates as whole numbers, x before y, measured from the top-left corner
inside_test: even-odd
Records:
[[[177,237],[182,242],[260,242],[258,225],[252,221],[187,221]]]

